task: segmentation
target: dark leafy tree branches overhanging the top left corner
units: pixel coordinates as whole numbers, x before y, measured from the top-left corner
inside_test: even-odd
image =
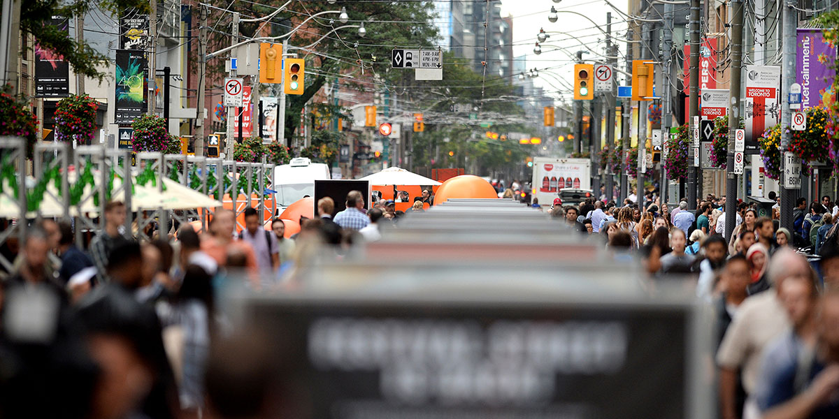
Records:
[[[20,5],[20,30],[32,34],[44,49],[64,56],[76,73],[102,81],[107,74],[98,70],[108,64],[107,55],[100,54],[86,42],[77,42],[67,31],[52,24],[53,16],[84,15],[91,8],[118,16],[129,10],[149,13],[149,2],[143,0],[28,0]]]

